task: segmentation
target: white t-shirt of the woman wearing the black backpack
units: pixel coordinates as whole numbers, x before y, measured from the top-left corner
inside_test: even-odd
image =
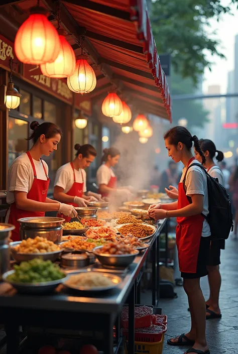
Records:
[[[192,164],[199,164],[197,160],[193,160],[190,165]],[[189,165],[189,166],[190,166]],[[183,181],[184,175],[186,172],[186,167],[183,168],[183,173],[180,182]],[[198,166],[190,167],[186,180],[185,180],[185,188],[186,188],[186,195],[191,196],[192,194],[201,194],[204,196],[203,199],[203,211],[204,215],[208,215],[208,192],[207,192],[207,182],[206,182],[206,174],[205,172]],[[203,227],[202,227],[202,237],[210,236],[210,226],[208,222],[204,219]]]

